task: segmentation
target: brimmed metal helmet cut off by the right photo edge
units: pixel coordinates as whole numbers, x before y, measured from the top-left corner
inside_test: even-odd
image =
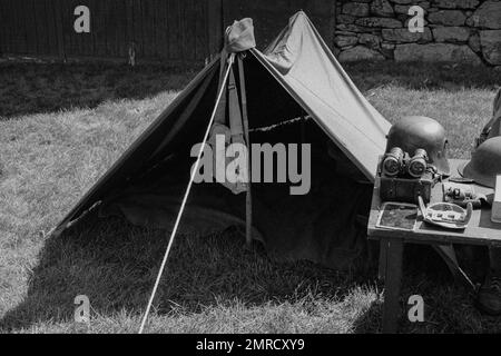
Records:
[[[494,188],[495,175],[501,175],[501,136],[483,141],[471,160],[460,165],[458,171],[479,185]]]

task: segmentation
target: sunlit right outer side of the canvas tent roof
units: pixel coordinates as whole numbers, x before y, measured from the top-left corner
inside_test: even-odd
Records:
[[[265,50],[252,50],[371,180],[390,122],[362,96],[302,11]]]

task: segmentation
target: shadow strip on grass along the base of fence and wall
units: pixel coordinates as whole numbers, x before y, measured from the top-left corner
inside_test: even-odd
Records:
[[[494,89],[501,82],[501,71],[469,65],[362,61],[343,67],[363,92],[386,85],[449,91]],[[106,100],[144,99],[165,90],[181,90],[200,68],[3,62],[0,119],[73,107],[92,108]]]

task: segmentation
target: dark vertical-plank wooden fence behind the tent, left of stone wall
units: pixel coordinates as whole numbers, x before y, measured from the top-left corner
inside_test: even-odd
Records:
[[[73,28],[78,6],[90,10],[89,33]],[[234,19],[252,17],[263,47],[299,9],[330,43],[333,0],[1,0],[0,53],[127,60],[134,47],[138,61],[200,62]]]

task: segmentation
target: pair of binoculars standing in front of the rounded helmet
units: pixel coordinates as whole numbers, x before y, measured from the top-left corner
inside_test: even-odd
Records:
[[[428,169],[428,154],[424,149],[418,148],[411,157],[400,147],[393,147],[383,157],[382,172],[386,177],[421,178]]]

